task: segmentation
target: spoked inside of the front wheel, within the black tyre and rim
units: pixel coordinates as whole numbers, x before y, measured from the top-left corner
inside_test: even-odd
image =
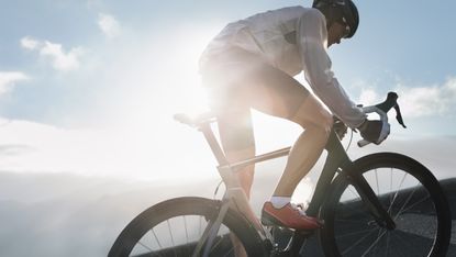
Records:
[[[437,233],[436,211],[427,190],[400,169],[372,169],[363,177],[397,226],[394,230],[380,226],[357,190],[347,186],[334,217],[341,255],[427,256],[425,249],[432,248]]]

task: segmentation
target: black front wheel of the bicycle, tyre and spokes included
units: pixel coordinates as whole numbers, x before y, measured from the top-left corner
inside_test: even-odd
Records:
[[[443,190],[420,163],[399,154],[374,154],[354,163],[396,223],[374,221],[345,176],[333,183],[322,209],[321,243],[326,256],[445,256],[452,220]]]

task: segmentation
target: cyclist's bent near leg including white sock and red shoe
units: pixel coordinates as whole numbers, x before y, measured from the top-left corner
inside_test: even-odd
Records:
[[[274,197],[289,201],[296,187],[319,159],[332,127],[331,113],[298,81],[285,72],[265,66],[255,76],[256,86],[251,88],[251,102],[257,110],[293,121],[304,127],[293,145],[286,169]],[[285,199],[283,199],[285,197]],[[314,217],[305,216],[292,204],[275,206],[266,202],[263,209],[264,224],[278,224],[297,230],[314,230],[321,226]]]

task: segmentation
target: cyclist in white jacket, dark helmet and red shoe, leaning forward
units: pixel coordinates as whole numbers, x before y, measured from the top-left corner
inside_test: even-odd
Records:
[[[270,201],[263,206],[264,224],[297,230],[321,226],[315,217],[290,203],[299,181],[320,157],[333,114],[360,131],[369,142],[381,143],[389,124],[369,121],[334,77],[326,49],[358,27],[352,0],[316,0],[313,8],[290,7],[258,13],[227,24],[208,45],[200,72],[218,115],[221,142],[229,161],[255,155],[251,108],[301,125],[285,171]],[[314,94],[293,76],[304,71]],[[254,166],[238,174],[247,197]]]

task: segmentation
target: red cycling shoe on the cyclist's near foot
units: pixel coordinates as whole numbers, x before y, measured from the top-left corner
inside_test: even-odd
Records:
[[[275,225],[294,228],[298,231],[316,230],[323,224],[313,216],[305,213],[292,203],[276,209],[270,202],[265,202],[262,211],[263,225]]]

